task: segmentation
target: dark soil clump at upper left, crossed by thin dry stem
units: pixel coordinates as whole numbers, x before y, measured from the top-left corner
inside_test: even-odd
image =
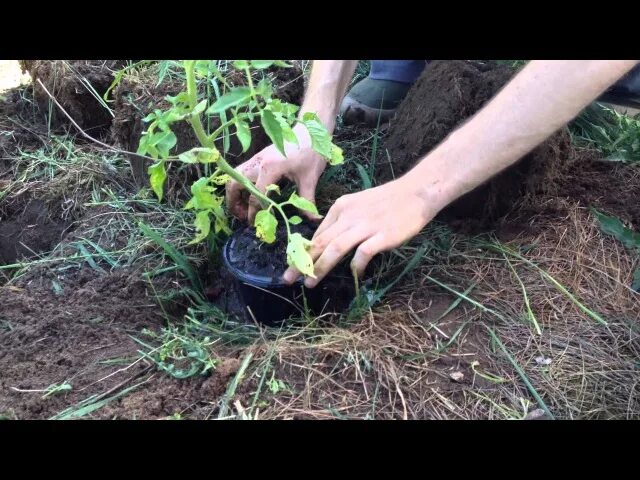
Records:
[[[96,135],[108,130],[112,116],[83,78],[102,97],[114,79],[114,72],[126,64],[125,60],[21,60],[20,64],[33,79],[34,97],[43,113],[49,113],[51,99],[37,80],[87,133]],[[51,108],[54,128],[69,124],[62,112]]]

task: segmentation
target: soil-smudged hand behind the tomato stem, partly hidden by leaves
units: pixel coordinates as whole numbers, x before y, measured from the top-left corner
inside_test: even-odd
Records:
[[[315,204],[316,185],[327,162],[311,148],[311,137],[303,124],[294,126],[293,131],[299,144],[285,143],[286,157],[271,145],[239,165],[236,170],[251,180],[263,193],[268,185],[277,184],[283,177],[288,178],[295,182],[298,195]],[[238,182],[230,180],[227,183],[226,201],[231,214],[253,224],[256,213],[262,210],[262,206],[253,195],[247,199],[246,193]],[[301,213],[310,220],[320,218],[309,212]]]

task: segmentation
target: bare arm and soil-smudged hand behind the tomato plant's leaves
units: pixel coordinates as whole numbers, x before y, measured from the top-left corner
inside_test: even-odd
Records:
[[[356,65],[356,60],[314,61],[300,116],[305,112],[317,113],[329,132],[333,132],[340,102]],[[316,185],[326,161],[311,148],[311,138],[304,125],[296,125],[293,131],[299,145],[286,144],[286,157],[271,145],[238,166],[238,170],[263,192],[267,185],[289,178],[296,183],[301,196],[315,202]],[[242,189],[237,182],[227,184],[227,205],[236,217],[253,222],[261,206],[253,196],[248,201],[243,198]]]

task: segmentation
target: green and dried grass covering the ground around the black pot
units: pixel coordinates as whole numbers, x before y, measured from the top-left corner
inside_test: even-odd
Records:
[[[170,80],[170,61],[156,68],[164,69],[159,81]],[[376,162],[385,158],[383,133],[349,128],[338,137],[347,165],[329,169],[320,191],[332,187],[335,196],[374,186]],[[114,174],[104,175],[103,168]],[[14,177],[20,181],[0,204],[14,201],[21,189],[56,182],[75,199],[74,230],[61,245],[0,267],[14,272],[10,286],[22,288],[30,275],[46,271],[64,298],[65,279],[83,269],[98,275],[128,269],[159,300],[162,323],[132,332],[130,351],[97,362],[107,371],[140,362],[159,373],[107,395],[88,392],[54,418],[106,415],[104,407],[131,393],[162,394],[151,387],[167,376],[162,384],[170,380],[191,392],[209,375],[221,379],[225,358],[238,359],[238,369],[222,378],[220,395],[203,393],[195,404],[178,395],[179,408],[173,398],[159,397],[171,408],[162,415],[522,419],[539,407],[561,419],[638,418],[640,311],[628,287],[637,260],[583,208],[558,223],[532,219],[537,233],[509,243],[433,222],[376,258],[350,312],[273,329],[240,323],[203,300],[200,279],[211,271],[205,268],[211,259],[204,248],[187,246],[188,214],[171,196],[158,203],[145,191],[136,194],[122,180],[125,169],[121,158],[58,137],[20,155]],[[326,190],[322,195],[320,201],[330,203]],[[178,313],[167,308],[183,297],[188,301]],[[7,336],[21,332],[19,322],[0,319]],[[68,394],[76,388],[82,386],[74,380]]]

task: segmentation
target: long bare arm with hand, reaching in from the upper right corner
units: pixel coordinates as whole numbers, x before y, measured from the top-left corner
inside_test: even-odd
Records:
[[[455,199],[512,165],[574,118],[637,60],[530,62],[485,108],[403,177],[345,195],[313,238],[314,287],[353,248],[362,275],[371,258],[417,235]],[[293,282],[299,272],[289,269]]]

